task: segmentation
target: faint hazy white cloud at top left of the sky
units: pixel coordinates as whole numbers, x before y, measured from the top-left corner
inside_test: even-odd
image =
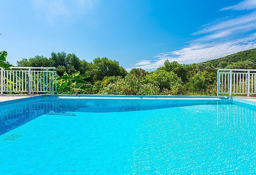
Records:
[[[77,17],[88,13],[98,0],[31,0],[38,15],[43,15],[49,22],[59,17]]]

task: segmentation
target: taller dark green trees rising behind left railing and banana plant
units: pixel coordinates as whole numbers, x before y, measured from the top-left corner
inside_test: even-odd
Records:
[[[65,52],[52,52],[49,58],[36,55],[33,58],[23,58],[17,61],[18,66],[26,67],[56,67],[57,74],[63,76],[64,72],[73,74],[80,71],[82,74],[90,74],[88,79],[91,82],[102,80],[105,76],[122,76],[127,75],[124,67],[119,66],[116,60],[109,60],[106,57],[95,58],[92,63],[80,60],[74,53],[66,54]]]

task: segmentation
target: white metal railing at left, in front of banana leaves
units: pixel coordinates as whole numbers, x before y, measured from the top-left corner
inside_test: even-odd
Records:
[[[4,92],[56,92],[55,67],[10,67],[1,68],[1,94]]]

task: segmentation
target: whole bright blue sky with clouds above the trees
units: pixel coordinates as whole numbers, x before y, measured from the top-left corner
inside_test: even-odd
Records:
[[[154,70],[256,47],[256,0],[1,1],[0,22],[0,50],[14,65],[64,51]]]

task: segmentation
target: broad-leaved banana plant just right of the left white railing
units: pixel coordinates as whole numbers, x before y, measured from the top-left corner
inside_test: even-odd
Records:
[[[58,94],[88,94],[86,90],[96,89],[95,86],[88,84],[85,78],[90,77],[88,74],[79,75],[80,72],[68,75],[64,73],[63,76],[57,77],[57,93]]]

